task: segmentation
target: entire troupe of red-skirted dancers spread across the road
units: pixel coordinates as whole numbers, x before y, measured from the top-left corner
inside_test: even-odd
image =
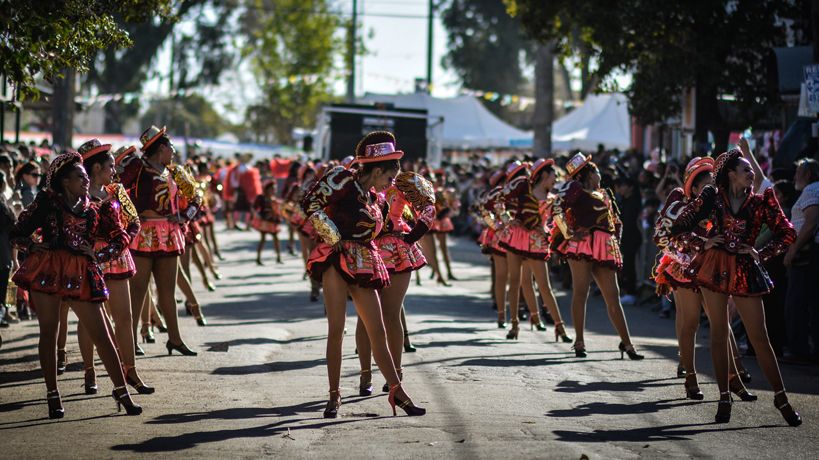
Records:
[[[140,414],[142,408],[134,403],[126,385],[140,394],[154,392],[135,367],[139,321],[150,326],[160,318],[150,314],[155,305],[164,318],[162,327],[167,328],[168,353],[196,355],[180,334],[174,296],[178,284],[188,312],[199,325],[207,324],[190,287],[189,269],[184,267],[192,259],[203,272],[203,260],[213,267],[210,245],[202,243],[202,234],[209,226],[212,232],[213,225],[209,183],[174,164],[175,149],[164,128],[152,126],[140,141],[141,156],[134,147],[114,155],[110,145],[96,139],[77,152],[58,156],[48,168],[45,190],[10,232],[21,260],[13,281],[30,293],[38,312],[40,364],[51,418],[62,418],[65,413],[57,375],[60,329],[65,324],[61,311],[66,307],[79,319],[86,393],[97,391],[96,348],[114,384],[112,397],[129,415]],[[673,293],[676,299],[678,372],[685,376],[686,396],[704,397],[694,365],[695,334],[704,306],[711,323],[711,354],[720,391],[716,421],[730,420],[731,393],[744,401],[757,399],[744,387],[742,373],[732,359],[736,353],[728,321],[732,299],[760,367],[774,388],[776,408],[790,425],[797,426],[801,418],[788,402],[760,299],[772,288],[761,263],[785,251],[795,232],[773,190],[761,194],[753,190],[754,173],[746,158],[750,153],[743,146],[716,160],[695,158],[689,163],[684,187],[668,196],[657,220],[655,239],[662,257],[655,267],[655,280],[660,294]],[[430,260],[435,259],[434,253],[427,256],[428,245],[436,238],[445,251],[446,241],[440,235],[452,230],[449,212],[457,210],[458,203],[434,173],[402,171],[399,160],[403,155],[391,133],[373,132],[359,142],[354,157],[320,167],[303,165],[297,180],[286,185],[283,198],[275,181],[270,181],[252,204],[251,225],[261,235],[257,263],[263,265],[267,235],[274,241],[276,261],[281,262],[278,234],[286,223],[299,235],[313,300],[323,291],[328,321],[326,418],[337,417],[341,406],[348,297],[358,314],[359,394],[373,392],[374,358],[386,380],[383,391],[389,393],[393,414],[396,408],[410,416],[426,413],[412,402],[402,384],[402,353],[411,351],[404,299],[412,272],[428,262],[434,262],[438,282],[448,281],[437,268],[437,260]],[[594,280],[619,335],[621,358],[641,360],[620,304],[617,271],[622,267],[622,224],[614,198],[601,188],[600,171],[590,156],[572,156],[565,172],[565,180],[558,182],[561,171],[552,159],[513,162],[491,174],[476,204],[484,224],[479,243],[494,268],[498,327],[507,327],[506,305],[516,307],[522,293],[532,328],[545,330],[538,314],[536,284],[554,320],[555,340],[573,343],[575,355],[585,358],[585,310]],[[202,171],[197,175],[207,176]],[[773,236],[756,250],[754,242],[763,224]],[[574,339],[566,331],[549,280],[547,261],[553,254],[568,263],[572,275]],[[445,262],[452,280],[446,252]],[[156,300],[151,295],[152,280]],[[517,339],[520,325],[514,311],[510,323],[506,337]],[[141,335],[147,341],[144,329]],[[63,369],[64,361],[63,352]]]

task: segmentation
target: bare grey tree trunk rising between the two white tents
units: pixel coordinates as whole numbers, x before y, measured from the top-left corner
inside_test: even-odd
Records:
[[[532,153],[544,158],[552,153],[554,107],[554,45],[538,45],[535,60],[535,113],[532,117],[534,145]]]

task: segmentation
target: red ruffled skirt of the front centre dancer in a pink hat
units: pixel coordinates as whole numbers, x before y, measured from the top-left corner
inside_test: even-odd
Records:
[[[390,275],[375,242],[341,240],[341,251],[321,241],[307,260],[307,272],[321,281],[324,272],[333,266],[349,284],[368,289],[381,289],[390,285]]]

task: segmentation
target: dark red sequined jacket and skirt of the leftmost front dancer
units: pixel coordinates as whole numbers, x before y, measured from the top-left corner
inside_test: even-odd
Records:
[[[100,263],[122,253],[128,235],[120,225],[118,202],[92,203],[86,199],[72,211],[60,195],[40,192],[19,216],[9,232],[12,243],[28,255],[14,274],[17,286],[65,299],[102,302],[108,299]],[[48,247],[31,251],[32,235],[39,230]],[[96,240],[107,244],[94,251],[94,259],[83,252]]]

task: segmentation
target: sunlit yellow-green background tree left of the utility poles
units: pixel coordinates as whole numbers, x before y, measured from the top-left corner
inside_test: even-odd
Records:
[[[334,58],[343,53],[335,36],[343,23],[327,0],[256,0],[242,18],[249,58],[262,91],[247,118],[257,139],[272,133],[283,144],[293,130],[308,127],[332,98]]]

